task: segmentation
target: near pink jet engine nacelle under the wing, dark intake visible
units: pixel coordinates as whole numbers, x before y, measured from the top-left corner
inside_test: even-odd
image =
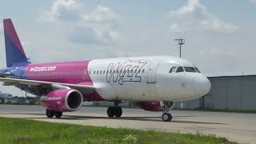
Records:
[[[74,111],[82,106],[82,94],[78,90],[53,90],[40,98],[42,106],[54,111]]]

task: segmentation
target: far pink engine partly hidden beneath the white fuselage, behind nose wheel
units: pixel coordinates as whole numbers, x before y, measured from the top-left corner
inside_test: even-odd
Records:
[[[135,102],[135,104],[142,110],[148,111],[164,111],[174,108],[174,102]]]

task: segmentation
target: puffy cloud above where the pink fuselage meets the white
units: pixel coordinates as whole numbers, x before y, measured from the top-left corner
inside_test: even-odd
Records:
[[[88,14],[82,14],[79,26],[70,35],[71,42],[111,45],[121,39],[117,23],[119,15],[106,6],[97,6]],[[84,34],[84,35],[83,35]]]

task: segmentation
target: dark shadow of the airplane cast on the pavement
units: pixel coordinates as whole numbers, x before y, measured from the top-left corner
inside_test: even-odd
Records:
[[[5,113],[5,114],[24,114],[24,115],[43,115],[46,114],[38,114],[38,113]],[[1,116],[1,114],[0,114]],[[174,116],[171,122],[174,123],[190,123],[190,124],[209,124],[209,125],[226,125],[225,123],[220,122],[197,122],[197,121],[185,121],[181,120],[181,118],[188,118],[188,117],[198,117],[195,115],[183,115],[183,116]],[[26,117],[27,118],[27,117]],[[47,119],[45,118],[37,118],[37,117],[29,117],[33,119]],[[161,117],[120,117],[120,118],[109,118],[109,117],[101,117],[101,116],[86,116],[86,115],[63,115],[62,118],[64,120],[89,120],[89,119],[118,119],[118,120],[132,120],[132,121],[145,121],[145,122],[162,122]]]

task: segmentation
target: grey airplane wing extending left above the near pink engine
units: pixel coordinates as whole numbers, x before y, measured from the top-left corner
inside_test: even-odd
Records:
[[[82,84],[69,84],[69,83],[60,83],[60,82],[45,82],[45,81],[35,81],[27,79],[18,79],[18,78],[0,78],[0,82],[4,82],[5,86],[15,86],[15,85],[26,85],[30,87],[38,87],[45,89],[43,91],[57,90],[57,89],[74,89],[79,90],[82,94],[92,94],[95,90],[94,86],[82,85]],[[42,93],[46,93],[42,92]]]

